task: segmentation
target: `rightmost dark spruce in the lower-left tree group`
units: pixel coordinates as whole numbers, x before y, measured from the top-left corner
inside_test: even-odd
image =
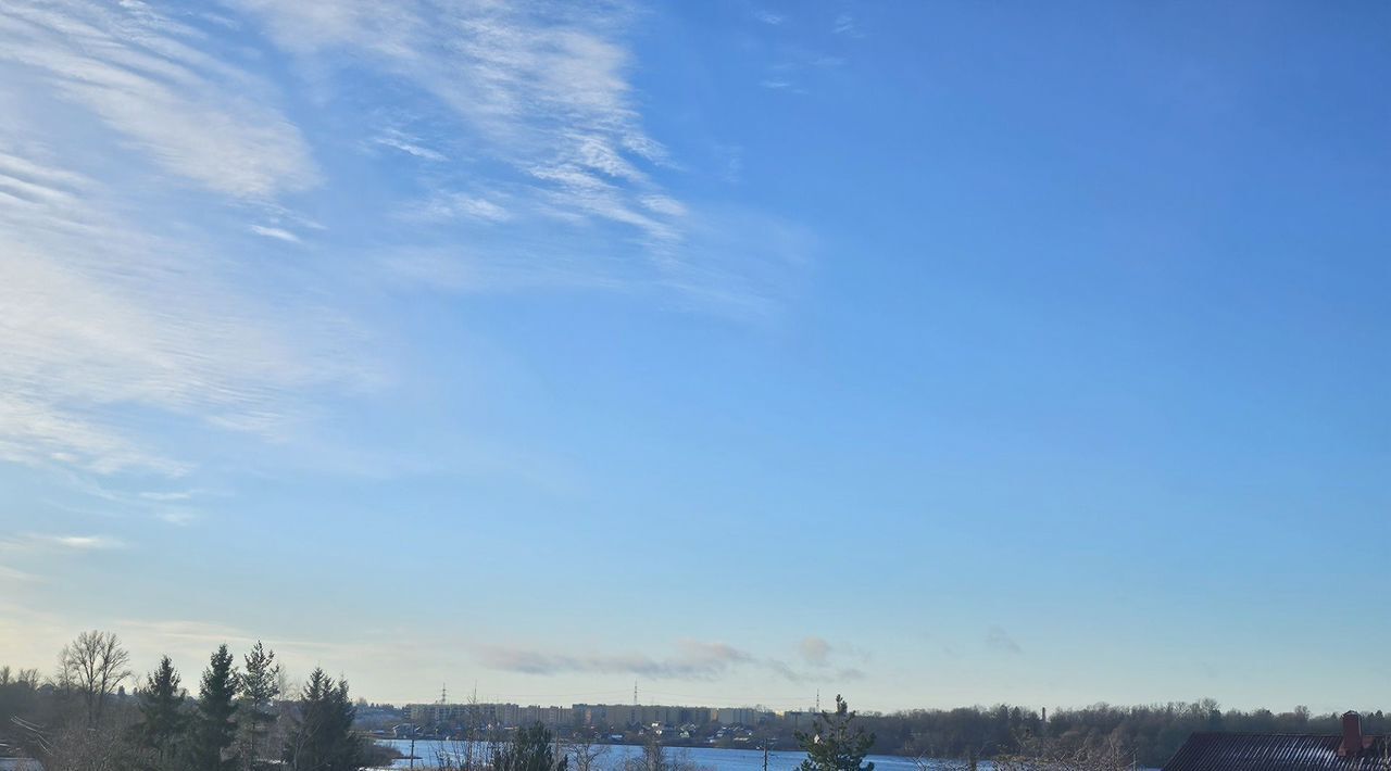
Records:
[[[363,767],[362,738],[353,732],[357,710],[348,681],[337,683],[314,670],[300,693],[299,714],[285,742],[291,771],[357,771]]]

